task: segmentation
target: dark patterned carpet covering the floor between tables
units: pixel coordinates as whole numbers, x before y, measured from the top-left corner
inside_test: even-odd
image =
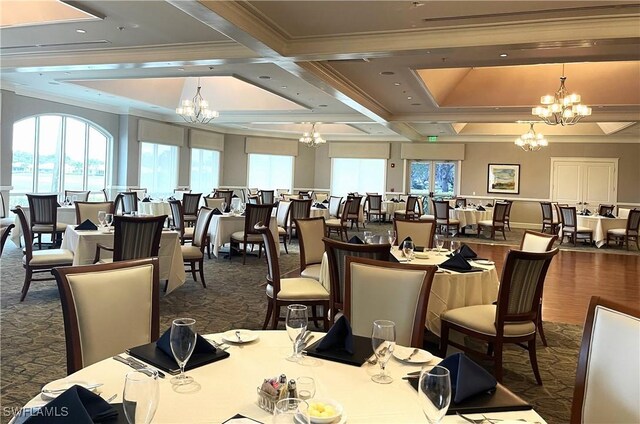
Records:
[[[388,225],[370,225],[376,233],[386,233]],[[350,232],[350,235],[355,231]],[[360,232],[362,236],[362,232]],[[282,254],[283,273],[299,267],[294,240],[289,255]],[[66,375],[64,330],[58,290],[54,281],[36,282],[25,302],[19,302],[24,271],[21,252],[11,242],[0,262],[1,326],[1,406],[19,407],[47,382]],[[162,297],[160,328],[171,320],[188,315],[198,322],[198,330],[220,332],[230,328],[259,329],[266,311],[264,260],[212,259],[205,261],[207,289],[190,277],[184,286]],[[545,323],[549,347],[538,346],[538,361],[544,386],[537,386],[526,351],[508,347],[505,352],[505,385],[531,402],[545,420],[569,420],[576,361],[582,329],[575,325]],[[0,421],[8,422],[7,414]]]

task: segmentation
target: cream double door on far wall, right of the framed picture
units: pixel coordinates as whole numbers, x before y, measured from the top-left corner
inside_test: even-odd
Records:
[[[618,159],[551,158],[551,200],[558,203],[616,204]]]

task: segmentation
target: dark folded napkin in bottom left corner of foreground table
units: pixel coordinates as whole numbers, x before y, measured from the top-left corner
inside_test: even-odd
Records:
[[[118,412],[97,394],[76,385],[31,414],[25,423],[93,424],[114,419]]]

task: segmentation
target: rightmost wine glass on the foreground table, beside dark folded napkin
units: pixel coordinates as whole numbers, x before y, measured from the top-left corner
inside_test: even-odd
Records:
[[[444,418],[451,403],[449,370],[441,366],[426,366],[420,371],[418,402],[430,424]]]

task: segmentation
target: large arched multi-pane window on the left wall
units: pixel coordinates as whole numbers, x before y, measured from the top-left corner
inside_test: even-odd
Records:
[[[10,204],[25,205],[26,193],[102,190],[110,141],[97,126],[70,116],[41,115],[16,122]],[[102,194],[92,193],[94,199],[102,199]]]

